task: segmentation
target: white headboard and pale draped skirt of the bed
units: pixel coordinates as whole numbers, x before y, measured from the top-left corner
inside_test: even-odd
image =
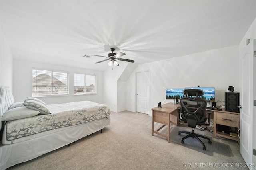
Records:
[[[2,115],[13,104],[14,98],[9,88],[0,87],[0,119]],[[110,124],[109,119],[100,119],[83,123],[77,126],[70,126],[62,131],[53,132],[41,137],[29,139],[19,143],[2,145],[0,143],[0,170],[5,170],[15,164],[32,160],[38,156],[56,150],[60,147],[69,145],[70,143],[81,139],[87,135],[101,131]],[[3,122],[1,121],[1,131],[3,130]]]

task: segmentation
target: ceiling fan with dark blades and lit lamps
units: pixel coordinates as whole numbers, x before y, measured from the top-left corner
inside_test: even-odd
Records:
[[[108,66],[119,66],[119,63],[117,62],[117,60],[128,61],[128,62],[134,63],[134,60],[119,58],[119,57],[122,57],[123,55],[125,55],[125,53],[120,52],[120,53],[117,53],[117,54],[116,54],[116,53],[114,53],[114,51],[115,51],[116,49],[110,48],[110,50],[112,51],[112,53],[109,53],[109,54],[108,54],[108,57],[102,56],[102,55],[94,55],[94,56],[99,56],[99,57],[108,58],[108,59],[106,59],[106,60],[98,61],[98,62],[96,62],[95,64],[101,63],[101,62],[103,62],[103,61],[108,61],[108,60],[110,60],[110,61],[108,62]]]

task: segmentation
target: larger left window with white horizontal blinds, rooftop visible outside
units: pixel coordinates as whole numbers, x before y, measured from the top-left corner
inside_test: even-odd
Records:
[[[69,94],[68,73],[49,70],[33,70],[32,96],[56,96]]]

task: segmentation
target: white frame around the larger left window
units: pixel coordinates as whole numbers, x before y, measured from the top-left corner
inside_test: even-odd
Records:
[[[52,92],[56,91],[56,87],[53,86],[53,82],[51,82],[51,86],[47,86],[47,89],[51,91],[51,94],[47,94],[47,95],[35,95],[34,94],[34,84],[33,84],[33,79],[34,79],[34,70],[42,70],[42,71],[46,71],[46,72],[51,72],[51,77],[53,77],[52,75],[54,73],[64,73],[66,74],[66,94],[53,94]],[[56,97],[56,96],[69,96],[70,95],[70,76],[69,76],[69,72],[68,71],[63,71],[63,70],[52,70],[52,69],[44,69],[44,68],[32,68],[32,97]],[[62,82],[63,83],[63,82]]]

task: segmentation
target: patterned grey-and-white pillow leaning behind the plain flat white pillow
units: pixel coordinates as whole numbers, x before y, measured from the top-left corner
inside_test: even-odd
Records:
[[[36,100],[26,100],[26,102],[24,102],[24,105],[29,109],[39,111],[41,115],[51,114],[47,106],[40,102],[37,102]]]

